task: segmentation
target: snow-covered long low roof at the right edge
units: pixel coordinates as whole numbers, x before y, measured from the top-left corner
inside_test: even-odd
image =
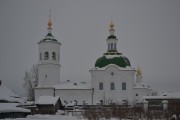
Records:
[[[180,99],[180,92],[162,93],[157,96],[144,96],[144,99]]]

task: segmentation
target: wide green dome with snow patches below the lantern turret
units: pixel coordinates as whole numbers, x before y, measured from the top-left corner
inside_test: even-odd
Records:
[[[113,58],[106,58],[106,56],[103,56],[96,60],[95,67],[102,68],[109,64],[115,64],[123,68],[125,68],[126,66],[131,66],[129,59],[125,56],[115,56]]]

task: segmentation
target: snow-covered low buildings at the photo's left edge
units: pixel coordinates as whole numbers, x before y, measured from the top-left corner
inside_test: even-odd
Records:
[[[18,107],[21,104],[23,100],[0,80],[0,119],[26,117],[31,111]]]

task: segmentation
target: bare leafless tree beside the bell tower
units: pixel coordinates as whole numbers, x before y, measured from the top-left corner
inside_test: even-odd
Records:
[[[34,87],[38,85],[38,66],[33,65],[30,71],[25,71],[23,87],[26,88],[29,100],[35,99]]]

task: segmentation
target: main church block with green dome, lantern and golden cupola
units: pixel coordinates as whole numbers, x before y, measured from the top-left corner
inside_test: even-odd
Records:
[[[114,24],[111,20],[106,39],[107,52],[99,57],[90,70],[93,104],[133,104],[135,69],[129,59],[117,50]]]

